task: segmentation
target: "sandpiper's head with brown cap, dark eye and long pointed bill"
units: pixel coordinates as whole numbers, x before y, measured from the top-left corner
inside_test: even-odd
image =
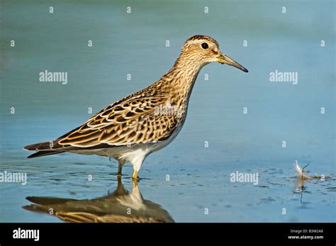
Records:
[[[216,40],[206,35],[194,35],[186,40],[181,50],[181,56],[201,66],[211,62],[220,62],[248,72],[245,67],[221,52]]]

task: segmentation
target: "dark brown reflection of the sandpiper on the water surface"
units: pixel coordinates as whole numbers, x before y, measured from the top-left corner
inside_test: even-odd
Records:
[[[128,192],[118,179],[118,187],[96,199],[60,199],[29,196],[35,204],[23,206],[28,211],[48,213],[67,222],[97,223],[173,223],[173,218],[159,204],[142,198],[138,183]]]

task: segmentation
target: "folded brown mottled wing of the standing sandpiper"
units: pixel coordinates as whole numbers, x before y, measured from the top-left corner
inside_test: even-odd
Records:
[[[174,114],[157,113],[167,98],[132,96],[104,108],[83,125],[58,138],[64,147],[96,145],[128,145],[157,142],[171,135],[179,118]]]

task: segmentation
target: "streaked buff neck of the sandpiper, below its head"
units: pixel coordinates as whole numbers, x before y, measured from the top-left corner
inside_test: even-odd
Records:
[[[162,84],[169,90],[172,104],[187,106],[198,73],[203,65],[194,60],[179,57],[174,67],[164,74]]]

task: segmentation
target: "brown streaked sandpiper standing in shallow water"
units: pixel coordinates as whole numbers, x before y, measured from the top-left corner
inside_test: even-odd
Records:
[[[179,134],[198,73],[212,62],[248,72],[221,52],[214,38],[194,35],[182,46],[174,66],[157,82],[106,106],[60,138],[23,148],[36,151],[28,158],[62,152],[114,158],[118,161],[117,176],[130,162],[132,178],[139,180],[145,158],[169,145]]]

